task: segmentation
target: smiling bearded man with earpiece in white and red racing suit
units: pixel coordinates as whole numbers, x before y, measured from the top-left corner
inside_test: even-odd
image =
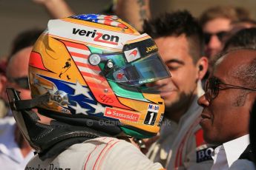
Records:
[[[165,100],[165,121],[147,156],[167,169],[209,169],[213,149],[203,140],[198,124],[203,108],[197,104],[208,68],[203,31],[188,11],[165,13],[145,21],[143,28],[172,74],[152,84]]]

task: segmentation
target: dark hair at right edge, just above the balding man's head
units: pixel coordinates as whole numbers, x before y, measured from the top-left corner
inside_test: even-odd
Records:
[[[252,48],[256,50],[256,28],[243,29],[226,41],[223,51],[235,48]]]

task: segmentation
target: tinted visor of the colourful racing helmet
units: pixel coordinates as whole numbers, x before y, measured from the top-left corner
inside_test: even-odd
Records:
[[[130,86],[140,86],[168,77],[170,72],[163,64],[158,52],[151,53],[113,72],[113,81]]]

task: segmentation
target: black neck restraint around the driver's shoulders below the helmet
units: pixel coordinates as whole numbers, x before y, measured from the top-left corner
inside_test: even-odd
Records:
[[[22,101],[19,98],[18,91],[7,88],[7,96],[17,126],[21,130],[24,138],[30,143],[30,146],[38,153],[47,152],[56,143],[61,143],[73,137],[82,137],[84,139],[86,137],[95,138],[114,135],[96,131],[94,130],[95,128],[91,129],[88,126],[73,126],[56,120],[51,120],[49,124],[40,123],[39,116],[31,109],[35,108],[39,103],[49,101],[49,93],[39,98]],[[93,126],[93,120],[91,120],[91,125]],[[114,126],[105,126],[105,129],[108,129],[106,130],[107,132],[121,132],[119,128]]]

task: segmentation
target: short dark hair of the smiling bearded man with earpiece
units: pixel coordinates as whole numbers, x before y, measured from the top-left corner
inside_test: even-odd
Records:
[[[203,56],[203,31],[197,20],[187,10],[164,13],[145,21],[143,30],[152,38],[186,35],[189,52],[194,63]]]

